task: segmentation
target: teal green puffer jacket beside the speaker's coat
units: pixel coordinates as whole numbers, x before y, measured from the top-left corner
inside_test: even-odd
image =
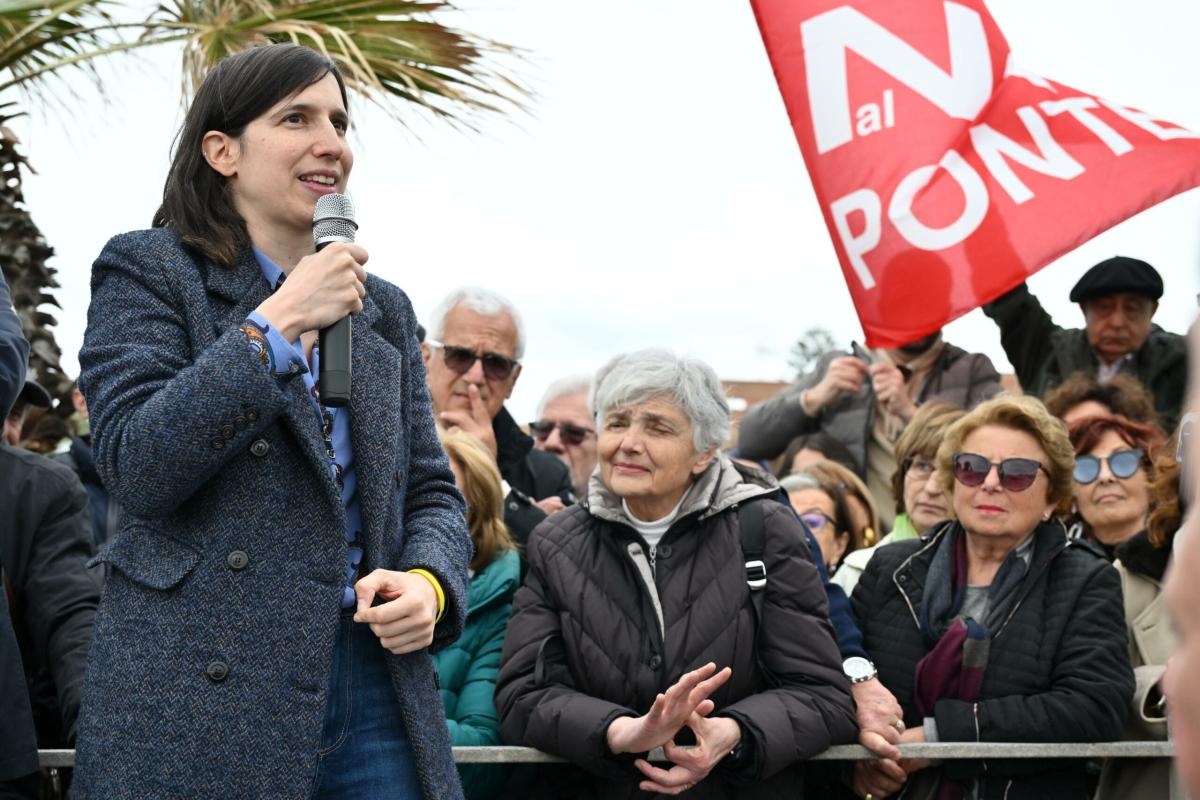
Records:
[[[504,628],[518,585],[521,559],[516,551],[506,551],[472,577],[462,637],[433,655],[450,744],[455,747],[500,744],[500,721],[492,694],[500,668]],[[508,768],[460,764],[458,774],[467,798],[492,798],[504,787]]]

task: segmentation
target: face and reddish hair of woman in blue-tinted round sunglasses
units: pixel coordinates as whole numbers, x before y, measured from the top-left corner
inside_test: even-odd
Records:
[[[1087,417],[1070,427],[1079,527],[1110,561],[1117,545],[1146,527],[1154,480],[1150,453],[1163,440],[1157,427],[1123,416]]]

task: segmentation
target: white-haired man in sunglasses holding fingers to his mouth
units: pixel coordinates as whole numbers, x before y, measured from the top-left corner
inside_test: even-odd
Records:
[[[521,314],[490,289],[456,289],[434,309],[421,351],[438,425],[469,433],[496,458],[508,493],[504,522],[523,545],[547,513],[575,503],[575,495],[566,465],[534,450],[504,408],[521,377]]]

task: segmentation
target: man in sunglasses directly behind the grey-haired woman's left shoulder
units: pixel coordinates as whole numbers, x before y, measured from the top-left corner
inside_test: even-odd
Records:
[[[596,467],[595,422],[588,410],[590,375],[568,375],[552,383],[529,423],[534,447],[559,458],[571,470],[575,497],[587,497]]]

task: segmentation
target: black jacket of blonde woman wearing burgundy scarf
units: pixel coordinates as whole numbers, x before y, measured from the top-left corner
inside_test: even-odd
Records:
[[[851,597],[863,644],[880,679],[922,724],[913,702],[922,593],[946,523],[917,540],[876,551]],[[1057,522],[1038,527],[1019,604],[992,632],[978,703],[934,708],[941,741],[1112,741],[1133,696],[1121,579],[1090,546],[1068,541]],[[980,800],[1087,798],[1085,762],[947,760],[947,774],[979,781]]]

